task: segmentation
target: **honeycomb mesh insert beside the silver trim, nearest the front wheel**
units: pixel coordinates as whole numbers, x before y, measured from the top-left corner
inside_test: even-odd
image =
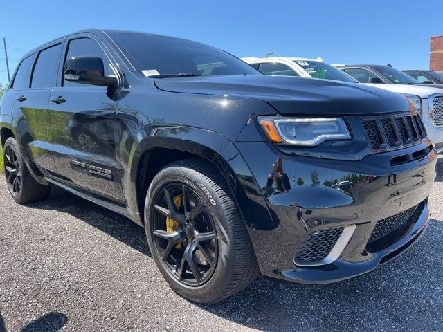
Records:
[[[343,227],[325,228],[309,234],[298,248],[296,264],[321,261],[329,255],[341,234]]]

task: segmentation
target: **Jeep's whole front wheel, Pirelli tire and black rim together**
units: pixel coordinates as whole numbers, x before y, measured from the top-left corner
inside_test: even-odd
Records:
[[[258,273],[251,240],[224,181],[201,160],[172,163],[155,176],[145,225],[163,277],[194,302],[226,299]]]

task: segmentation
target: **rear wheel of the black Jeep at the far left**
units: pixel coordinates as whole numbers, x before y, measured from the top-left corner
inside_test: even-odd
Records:
[[[26,167],[19,143],[10,137],[3,147],[3,162],[8,190],[19,204],[42,201],[51,192],[51,185],[42,185],[35,181]]]

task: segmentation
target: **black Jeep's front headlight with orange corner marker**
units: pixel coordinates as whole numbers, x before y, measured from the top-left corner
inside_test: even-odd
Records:
[[[260,116],[258,122],[274,143],[314,147],[325,140],[351,138],[343,118]]]

